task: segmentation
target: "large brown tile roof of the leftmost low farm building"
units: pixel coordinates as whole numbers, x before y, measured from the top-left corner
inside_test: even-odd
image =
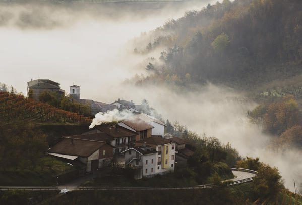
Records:
[[[49,149],[48,152],[59,153],[62,155],[89,157],[90,155],[92,155],[92,153],[94,153],[105,144],[106,143],[104,142],[82,139],[73,139],[73,143],[71,143],[71,139],[63,138],[61,142],[57,143],[54,147]]]

